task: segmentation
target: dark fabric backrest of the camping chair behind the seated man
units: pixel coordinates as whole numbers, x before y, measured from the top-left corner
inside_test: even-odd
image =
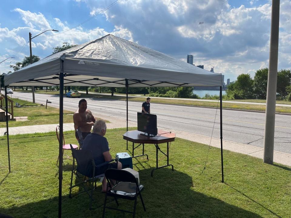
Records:
[[[90,150],[77,150],[70,144],[73,158],[77,161],[77,171],[84,176],[92,177],[93,155]],[[93,161],[93,162],[92,162]]]

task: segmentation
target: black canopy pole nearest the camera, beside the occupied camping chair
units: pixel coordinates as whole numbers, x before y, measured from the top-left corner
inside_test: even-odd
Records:
[[[64,65],[60,73],[60,133],[59,133],[59,218],[62,217],[62,179],[63,179],[63,97],[64,97]]]

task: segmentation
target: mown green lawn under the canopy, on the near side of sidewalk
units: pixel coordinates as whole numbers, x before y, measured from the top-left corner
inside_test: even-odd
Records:
[[[107,130],[106,137],[114,156],[126,151],[122,139],[125,129]],[[76,143],[72,131],[65,132],[66,143]],[[55,133],[10,136],[11,173],[8,173],[6,138],[0,137],[0,213],[14,217],[57,217],[58,215],[58,142]],[[165,149],[165,145],[161,145]],[[141,147],[136,151],[141,152]],[[211,147],[202,173],[208,146],[177,138],[170,147],[174,171],[155,170],[155,148],[146,145],[144,157],[133,159],[145,186],[142,196],[146,212],[138,200],[136,217],[290,217],[291,169],[269,165],[262,160],[224,151],[225,182],[221,183],[220,150]],[[127,151],[131,154],[129,151]],[[66,151],[65,154],[70,154]],[[159,159],[163,156],[160,155]],[[166,158],[159,164],[165,164]],[[64,161],[62,217],[102,217],[105,195],[98,184],[93,210],[83,193],[69,199],[72,161]],[[74,181],[75,182],[75,181]],[[78,188],[73,189],[77,193]],[[109,199],[111,201],[111,199]],[[132,210],[133,202],[119,200],[120,208]],[[111,201],[109,206],[115,206]],[[132,217],[107,210],[106,217]]]

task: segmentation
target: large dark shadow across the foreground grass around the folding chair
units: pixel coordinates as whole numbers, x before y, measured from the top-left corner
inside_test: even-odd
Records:
[[[142,209],[140,199],[137,203],[136,217],[237,217],[260,218],[256,213],[225,203],[214,197],[192,190],[192,177],[171,169],[156,170],[154,177],[150,176],[153,168],[139,171],[141,183],[145,186],[142,197],[146,212]],[[94,192],[93,210],[89,210],[89,196],[80,194],[70,199],[69,184],[63,183],[62,217],[102,217],[105,195],[100,193],[100,183]],[[78,189],[78,188],[77,188]],[[75,190],[76,191],[76,190]],[[55,193],[57,196],[58,193]],[[109,199],[109,205],[115,207],[114,200]],[[120,209],[133,210],[133,201],[119,200]],[[17,204],[21,204],[21,201]],[[0,208],[0,213],[14,217],[57,217],[58,198],[27,203],[21,206]],[[106,210],[105,217],[132,217],[131,214]]]

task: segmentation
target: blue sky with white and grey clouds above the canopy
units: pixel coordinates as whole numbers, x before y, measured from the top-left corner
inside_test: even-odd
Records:
[[[115,0],[2,1],[1,73],[29,56],[28,33],[65,31],[91,18]],[[291,1],[280,1],[278,69],[291,68]],[[120,0],[106,12],[66,33],[32,40],[32,53],[52,54],[63,42],[81,44],[109,33],[225,75],[254,75],[268,67],[270,0]],[[204,22],[199,25],[199,22]],[[48,31],[42,36],[55,34]]]

